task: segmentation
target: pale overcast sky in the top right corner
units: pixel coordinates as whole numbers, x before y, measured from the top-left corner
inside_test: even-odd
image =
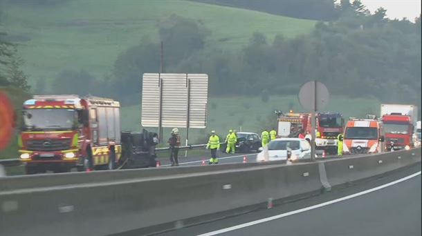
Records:
[[[387,10],[387,17],[389,19],[402,19],[406,17],[410,21],[421,14],[421,0],[360,0],[367,9],[374,13],[374,11],[383,7]]]

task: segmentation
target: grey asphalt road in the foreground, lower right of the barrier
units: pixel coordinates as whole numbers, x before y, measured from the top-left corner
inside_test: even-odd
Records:
[[[421,235],[421,175],[385,186],[385,188],[373,189],[420,171],[421,165],[418,164],[380,179],[333,190],[318,197],[275,206],[270,210],[257,210],[237,217],[181,228],[160,235]],[[362,191],[368,192],[369,189],[373,191],[362,195],[357,194]],[[358,196],[350,197],[351,195]],[[315,205],[342,197],[346,199],[313,208]],[[313,209],[290,215],[292,211],[306,207]],[[281,214],[286,216],[279,217]],[[274,216],[279,218],[266,221],[268,217]],[[255,224],[257,220],[262,222]],[[245,227],[241,225],[248,223],[249,225]],[[221,234],[215,232],[233,226],[238,226],[238,228]]]

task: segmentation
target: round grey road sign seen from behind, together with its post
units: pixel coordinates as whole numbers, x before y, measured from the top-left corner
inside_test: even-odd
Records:
[[[327,106],[329,92],[324,83],[313,80],[308,81],[302,85],[298,97],[303,108],[305,108],[305,110],[311,111],[311,130],[313,131],[311,132],[311,159],[315,160],[315,112]]]

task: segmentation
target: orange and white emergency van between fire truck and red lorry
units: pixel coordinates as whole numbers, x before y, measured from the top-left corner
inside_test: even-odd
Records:
[[[383,151],[384,137],[381,121],[374,116],[367,118],[351,118],[347,121],[343,139],[345,154],[381,153]]]

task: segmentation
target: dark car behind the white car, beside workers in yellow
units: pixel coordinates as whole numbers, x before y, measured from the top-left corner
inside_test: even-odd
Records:
[[[258,152],[262,146],[261,138],[255,132],[237,132],[237,143],[235,146],[236,153]],[[221,145],[221,151],[226,153],[227,144]]]

